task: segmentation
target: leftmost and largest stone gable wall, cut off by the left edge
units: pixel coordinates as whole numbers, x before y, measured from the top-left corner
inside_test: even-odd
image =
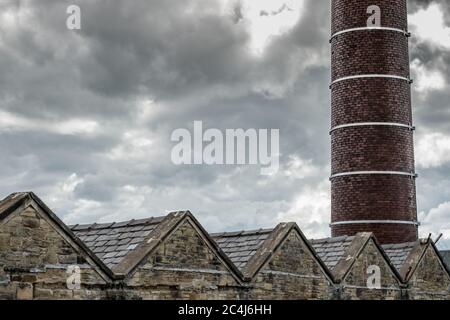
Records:
[[[1,222],[0,299],[106,298],[109,280],[57,229],[32,206]],[[70,265],[80,267],[79,289],[68,289]]]

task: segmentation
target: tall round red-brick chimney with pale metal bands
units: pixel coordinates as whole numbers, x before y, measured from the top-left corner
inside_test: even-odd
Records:
[[[332,0],[331,232],[417,239],[406,0]]]

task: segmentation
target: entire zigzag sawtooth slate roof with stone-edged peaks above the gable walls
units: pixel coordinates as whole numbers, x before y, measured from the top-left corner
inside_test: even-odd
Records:
[[[129,274],[184,219],[190,219],[196,225],[233,274],[243,280],[252,279],[257,274],[292,230],[298,232],[324,272],[335,280],[345,276],[352,261],[370,239],[375,241],[393,271],[403,281],[420,261],[425,246],[431,243],[437,251],[429,239],[380,246],[371,233],[308,241],[295,223],[280,223],[273,229],[209,234],[189,211],[172,212],[156,218],[68,227],[32,192],[13,193],[1,200],[0,222],[32,202],[111,278]],[[450,273],[450,251],[441,251],[439,257]]]

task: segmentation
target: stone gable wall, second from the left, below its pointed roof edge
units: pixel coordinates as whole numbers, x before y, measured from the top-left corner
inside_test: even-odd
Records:
[[[237,299],[240,295],[238,279],[189,219],[124,282],[127,290],[144,299]]]

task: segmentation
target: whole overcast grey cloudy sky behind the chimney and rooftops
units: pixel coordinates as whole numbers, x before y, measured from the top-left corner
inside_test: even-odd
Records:
[[[450,3],[409,15],[421,233],[450,249]],[[328,236],[329,19],[326,0],[0,0],[0,196],[67,223],[189,209],[210,231]],[[279,128],[279,172],[174,165],[195,120]]]

